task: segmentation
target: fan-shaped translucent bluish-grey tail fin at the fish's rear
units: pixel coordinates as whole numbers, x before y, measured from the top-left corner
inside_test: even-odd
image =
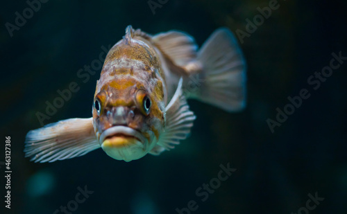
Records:
[[[246,61],[228,28],[219,28],[198,51],[203,84],[192,96],[227,112],[246,106]]]

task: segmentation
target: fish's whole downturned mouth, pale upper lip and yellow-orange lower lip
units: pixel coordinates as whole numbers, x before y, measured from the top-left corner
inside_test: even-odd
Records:
[[[147,139],[141,132],[130,127],[117,125],[105,130],[100,136],[100,143],[108,147],[122,147],[126,145],[142,145],[145,148]]]

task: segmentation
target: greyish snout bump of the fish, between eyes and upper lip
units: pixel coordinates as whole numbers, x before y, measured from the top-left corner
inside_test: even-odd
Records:
[[[112,125],[128,125],[135,114],[129,107],[112,107],[107,113],[108,120]]]

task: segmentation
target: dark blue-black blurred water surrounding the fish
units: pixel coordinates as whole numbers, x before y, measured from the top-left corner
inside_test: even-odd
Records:
[[[40,8],[31,14],[28,2]],[[347,61],[339,57],[347,56],[346,6],[328,0],[3,1],[0,213],[346,213]],[[16,12],[28,17],[21,26]],[[57,90],[71,82],[79,87],[44,125],[91,116],[101,71],[96,61],[129,24],[150,34],[183,30],[199,46],[221,26],[238,32],[248,64],[246,109],[228,114],[189,100],[197,116],[191,135],[158,157],[126,163],[95,150],[54,163],[24,158],[26,133],[42,127],[36,114],[45,113]],[[77,76],[92,65],[88,80]],[[316,76],[322,70],[328,77]],[[305,89],[306,99],[290,109],[288,96]],[[291,114],[278,120],[285,111]],[[10,209],[5,136],[11,138]],[[217,179],[228,166],[233,172]]]

